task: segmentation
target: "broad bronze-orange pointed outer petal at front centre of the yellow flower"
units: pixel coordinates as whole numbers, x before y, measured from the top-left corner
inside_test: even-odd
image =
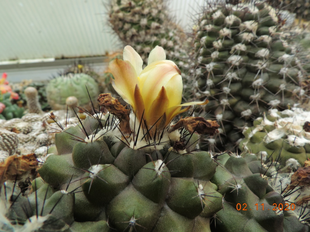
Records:
[[[152,127],[156,123],[157,130],[162,129],[159,128],[159,125],[163,120],[163,115],[165,114],[166,110],[168,110],[168,106],[169,106],[169,99],[166,94],[166,89],[162,87],[156,99],[152,102],[150,109],[148,110],[148,112],[146,112],[145,119],[148,125]],[[159,121],[157,122],[158,119]],[[154,127],[154,130],[155,128],[156,126]]]

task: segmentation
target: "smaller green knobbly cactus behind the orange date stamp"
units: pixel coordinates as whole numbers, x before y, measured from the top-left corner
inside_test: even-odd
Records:
[[[214,215],[214,231],[309,231],[309,209],[299,207],[284,185],[273,189],[283,181],[278,163],[261,163],[250,153],[224,154],[218,162],[211,182],[224,195],[224,210]]]

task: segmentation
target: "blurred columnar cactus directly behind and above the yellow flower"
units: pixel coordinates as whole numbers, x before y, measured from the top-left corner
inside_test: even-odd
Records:
[[[131,45],[147,63],[148,54],[159,45],[167,59],[179,68],[188,67],[187,36],[171,18],[165,0],[111,0],[109,22],[124,45]]]

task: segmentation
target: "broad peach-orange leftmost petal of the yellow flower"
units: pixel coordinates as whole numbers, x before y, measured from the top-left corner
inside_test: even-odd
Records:
[[[115,59],[109,63],[114,76],[113,88],[128,104],[135,102],[134,91],[138,82],[137,73],[129,61]]]

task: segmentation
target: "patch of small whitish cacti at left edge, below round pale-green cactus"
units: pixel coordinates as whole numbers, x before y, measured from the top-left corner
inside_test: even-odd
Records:
[[[82,114],[78,116],[86,117]],[[68,112],[58,110],[45,114],[28,113],[21,118],[0,120],[0,130],[5,136],[0,136],[0,151],[6,151],[4,156],[13,155],[17,149],[21,154],[44,155],[48,146],[55,144],[53,133],[58,131],[58,125],[70,127],[76,122],[78,118],[70,110]],[[12,135],[14,135],[13,139],[6,139],[8,136],[11,138]],[[8,149],[9,147],[12,149]]]

